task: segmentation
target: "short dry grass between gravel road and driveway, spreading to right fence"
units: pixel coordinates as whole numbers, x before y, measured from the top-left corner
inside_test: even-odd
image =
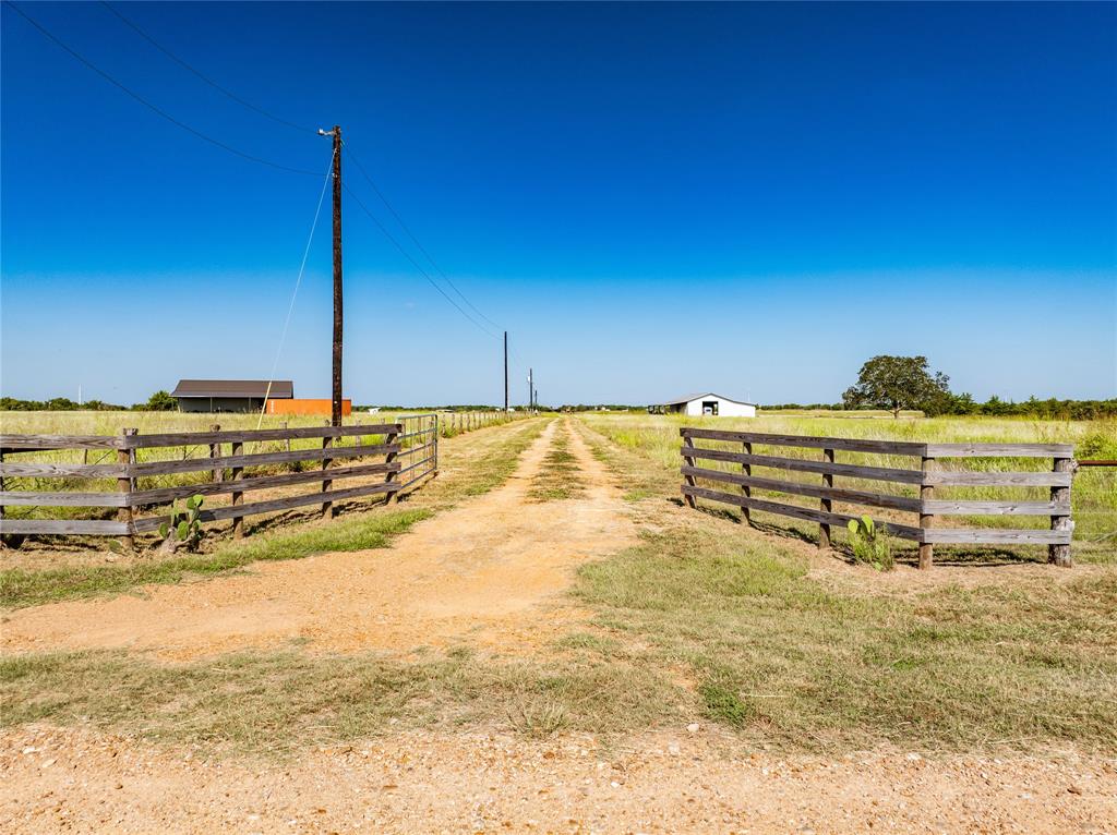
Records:
[[[503,443],[529,443],[542,425],[509,429]],[[916,588],[857,568],[812,572],[799,544],[671,503],[676,474],[642,447],[574,428],[648,497],[629,506],[640,541],[579,572],[572,595],[592,622],[545,654],[15,656],[0,662],[0,722],[284,752],[400,728],[609,738],[705,717],[745,747],[787,751],[1117,752],[1113,565],[1049,578],[994,568]],[[458,466],[496,461],[491,450],[474,460],[462,447]]]

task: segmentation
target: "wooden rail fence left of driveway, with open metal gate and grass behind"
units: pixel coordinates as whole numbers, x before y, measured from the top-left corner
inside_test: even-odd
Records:
[[[170,519],[172,502],[197,495],[227,502],[207,506],[200,520],[231,519],[235,537],[258,514],[318,505],[332,517],[337,502],[392,501],[435,476],[438,435],[435,414],[353,426],[3,434],[0,534],[114,536],[132,546]]]

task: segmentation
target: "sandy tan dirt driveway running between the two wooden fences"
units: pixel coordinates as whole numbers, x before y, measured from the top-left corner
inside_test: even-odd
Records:
[[[557,432],[570,438],[579,499],[532,502],[532,478]],[[121,647],[184,660],[308,641],[312,652],[471,644],[531,649],[577,613],[557,601],[574,568],[628,545],[634,526],[609,472],[552,422],[513,477],[420,522],[389,549],[261,563],[244,575],[149,586],[143,596],[75,601],[10,614],[6,652]]]

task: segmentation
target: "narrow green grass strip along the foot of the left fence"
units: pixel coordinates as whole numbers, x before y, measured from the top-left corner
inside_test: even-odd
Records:
[[[409,508],[257,535],[245,543],[227,543],[209,554],[161,560],[135,559],[125,565],[80,565],[34,572],[8,569],[0,572],[0,606],[19,608],[75,597],[120,594],[152,583],[181,583],[223,574],[260,560],[386,548],[393,537],[430,516],[430,510]]]

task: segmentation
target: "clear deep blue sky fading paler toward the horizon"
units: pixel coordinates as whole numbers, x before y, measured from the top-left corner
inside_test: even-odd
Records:
[[[20,8],[175,118],[325,172],[328,140],[102,6]],[[528,364],[545,403],[834,401],[882,353],[978,397],[1117,396],[1113,3],[117,8],[254,105],[340,123],[510,332],[515,401]],[[175,127],[7,6],[0,92],[3,394],[266,377],[323,179]],[[330,387],[322,220],[278,374],[305,396]],[[344,229],[346,394],[498,402],[499,342],[349,195]]]

